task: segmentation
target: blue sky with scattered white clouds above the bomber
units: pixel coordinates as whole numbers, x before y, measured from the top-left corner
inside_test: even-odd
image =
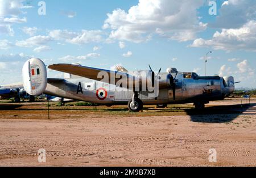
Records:
[[[121,63],[129,70],[176,67],[204,75],[233,75],[237,87],[256,87],[256,2],[96,0],[0,0],[0,83],[22,80],[30,57],[46,65],[79,62],[110,69]],[[48,77],[62,74],[49,71]]]

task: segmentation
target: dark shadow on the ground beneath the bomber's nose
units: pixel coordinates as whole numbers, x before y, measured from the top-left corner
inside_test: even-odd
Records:
[[[254,111],[251,107],[255,105],[244,104],[243,111],[241,104],[207,107],[203,111],[197,111],[196,109],[185,109],[185,111],[191,117],[192,122],[226,123],[232,122],[240,115],[254,115],[253,113],[244,112]]]

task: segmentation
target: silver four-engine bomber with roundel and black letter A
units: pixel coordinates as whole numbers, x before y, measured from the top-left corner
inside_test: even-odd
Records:
[[[131,112],[143,105],[193,103],[204,109],[213,100],[223,100],[234,92],[233,77],[200,77],[193,72],[169,68],[165,73],[97,69],[79,64],[53,64],[51,70],[64,73],[63,79],[47,78],[44,62],[32,58],[24,63],[23,88],[29,95],[41,94],[101,105],[127,104]]]

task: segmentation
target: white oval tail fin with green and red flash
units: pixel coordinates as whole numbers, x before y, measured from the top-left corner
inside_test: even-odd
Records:
[[[23,87],[32,96],[43,94],[47,87],[47,70],[42,60],[32,58],[22,69]]]

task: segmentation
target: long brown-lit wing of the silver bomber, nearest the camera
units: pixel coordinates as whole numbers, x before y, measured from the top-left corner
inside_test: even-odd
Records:
[[[113,74],[119,74],[119,75],[126,75],[127,77],[127,86],[129,86],[129,80],[134,79],[133,75],[129,75],[127,73],[120,73],[117,71],[111,71],[111,70],[105,70],[105,69],[97,69],[93,67],[85,67],[85,66],[78,66],[78,65],[72,65],[72,64],[53,64],[48,66],[49,69],[61,71],[63,73],[69,73],[73,75],[77,75],[80,77],[85,77],[97,81],[102,81],[102,76],[98,76],[101,72],[105,72],[105,74],[108,74],[109,78],[104,80],[105,83],[110,84],[116,84],[119,79],[116,79],[114,81],[111,81],[111,76]],[[115,76],[115,75],[114,75]],[[104,78],[105,79],[105,78]]]

